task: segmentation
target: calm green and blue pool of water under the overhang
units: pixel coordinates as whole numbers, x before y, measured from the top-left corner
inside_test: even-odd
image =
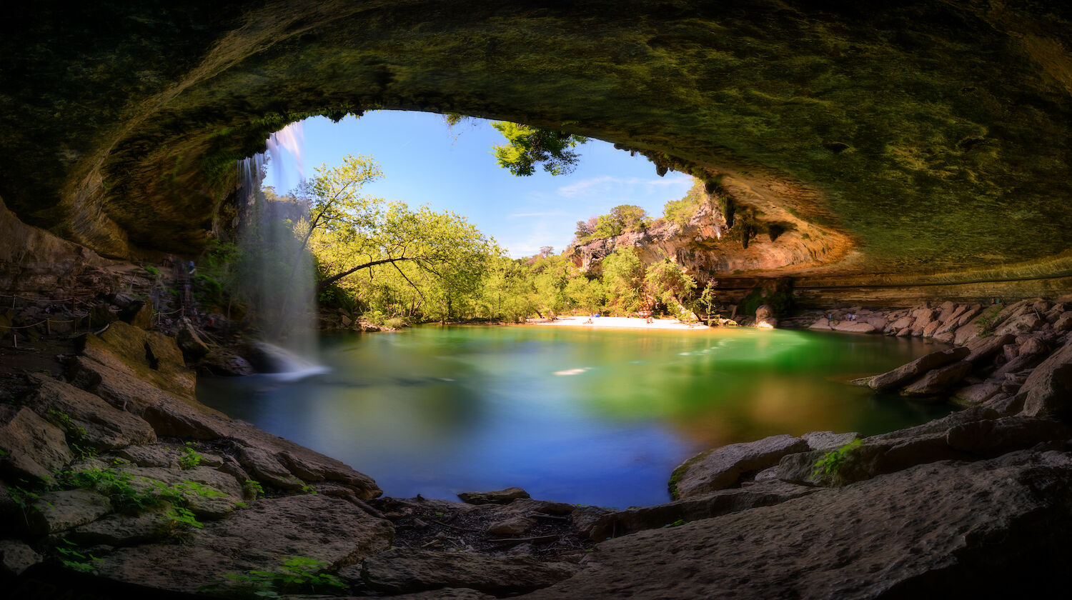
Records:
[[[876,434],[949,407],[847,385],[937,346],[875,335],[714,329],[418,327],[322,340],[328,375],[202,378],[234,418],[334,456],[385,494],[666,501],[694,453],[781,433]]]

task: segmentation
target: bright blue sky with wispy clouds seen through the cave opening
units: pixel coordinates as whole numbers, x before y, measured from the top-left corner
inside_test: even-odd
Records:
[[[465,215],[515,258],[544,245],[562,252],[578,221],[617,205],[638,205],[659,216],[662,205],[682,198],[691,185],[687,175],[660,178],[643,156],[595,139],[577,148],[581,162],[570,175],[538,169],[532,177],[513,177],[491,153],[504,138],[489,121],[467,120],[449,130],[441,115],[429,112],[377,110],[338,123],[316,117],[295,133],[307,177],[346,154],[371,154],[384,178],[366,193]],[[269,163],[265,185],[286,192],[298,183],[298,158],[285,151],[280,156]]]

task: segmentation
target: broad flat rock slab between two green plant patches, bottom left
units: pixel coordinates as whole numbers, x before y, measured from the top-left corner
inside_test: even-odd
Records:
[[[339,498],[303,494],[263,498],[189,534],[181,544],[121,548],[99,562],[101,575],[142,585],[196,591],[226,573],[279,571],[302,556],[333,568],[383,552],[393,539],[388,521]]]

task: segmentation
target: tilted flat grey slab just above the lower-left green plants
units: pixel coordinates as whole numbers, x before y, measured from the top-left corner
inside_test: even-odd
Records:
[[[103,451],[157,441],[144,419],[89,392],[46,375],[31,375],[30,380],[38,386],[30,399],[34,410],[83,448]]]

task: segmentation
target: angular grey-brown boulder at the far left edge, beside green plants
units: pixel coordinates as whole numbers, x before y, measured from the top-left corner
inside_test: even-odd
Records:
[[[63,431],[25,406],[0,404],[0,470],[14,480],[48,481],[74,460]]]

